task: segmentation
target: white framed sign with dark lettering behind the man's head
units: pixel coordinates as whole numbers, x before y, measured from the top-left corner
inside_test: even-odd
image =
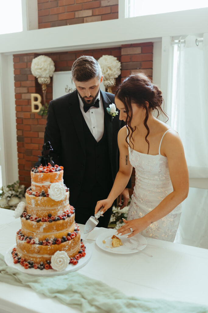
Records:
[[[76,89],[72,79],[71,71],[55,72],[53,74],[53,99],[59,98]],[[102,81],[100,89],[105,91],[105,86]]]

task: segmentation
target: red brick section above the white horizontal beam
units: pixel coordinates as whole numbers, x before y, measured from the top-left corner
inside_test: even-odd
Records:
[[[38,0],[39,28],[118,18],[119,0]]]

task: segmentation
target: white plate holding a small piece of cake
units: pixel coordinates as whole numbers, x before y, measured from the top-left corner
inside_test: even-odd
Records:
[[[131,238],[126,238],[124,237],[125,235],[116,235],[117,237],[119,237],[119,239],[121,239],[123,246],[113,248],[111,244],[111,237],[115,235],[115,232],[116,229],[109,229],[105,233],[101,233],[96,239],[96,244],[98,245],[98,247],[111,253],[128,254],[143,250],[147,246],[147,239],[140,234],[136,234]],[[103,240],[105,240],[105,243],[103,243]],[[131,246],[127,247],[125,245],[126,242],[129,242]]]

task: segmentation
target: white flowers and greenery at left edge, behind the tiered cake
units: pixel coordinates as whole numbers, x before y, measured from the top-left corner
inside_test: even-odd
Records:
[[[20,185],[19,181],[3,186],[0,189],[0,208],[15,210],[20,201],[26,203],[24,194],[25,186]]]

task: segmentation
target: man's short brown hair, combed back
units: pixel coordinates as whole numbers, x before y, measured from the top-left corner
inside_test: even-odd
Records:
[[[102,70],[97,60],[89,55],[81,55],[72,65],[72,78],[76,81],[88,81],[102,76]]]

